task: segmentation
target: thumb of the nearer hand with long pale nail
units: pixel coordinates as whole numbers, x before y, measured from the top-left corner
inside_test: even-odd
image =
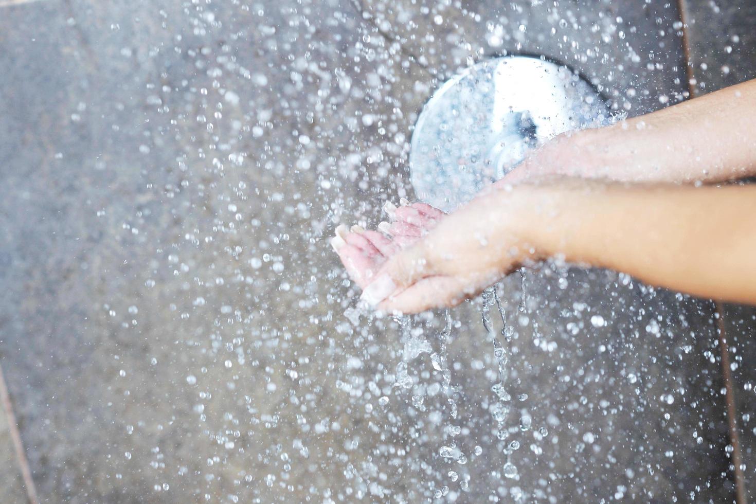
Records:
[[[423,241],[420,240],[414,246],[389,258],[360,297],[367,304],[376,306],[389,295],[407,289],[413,283],[432,274],[432,264],[429,264]]]

